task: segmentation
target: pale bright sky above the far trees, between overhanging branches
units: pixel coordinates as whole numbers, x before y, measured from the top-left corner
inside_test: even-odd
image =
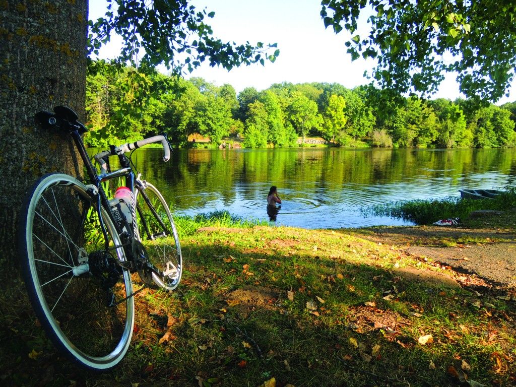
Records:
[[[320,17],[319,0],[192,0],[198,9],[215,11],[213,19],[207,24],[213,28],[214,36],[222,41],[235,41],[238,44],[278,43],[280,55],[276,62],[266,61],[265,67],[257,64],[234,68],[230,72],[221,67],[209,67],[203,63],[191,76],[202,77],[208,82],[221,86],[232,85],[236,92],[246,87],[257,90],[267,89],[270,85],[282,82],[339,83],[354,88],[369,83],[364,71],[375,66],[373,59],[362,58],[351,62],[344,43],[350,38],[347,31],[335,34],[332,28],[325,29]],[[90,0],[89,18],[95,20],[106,11],[105,0]],[[359,23],[358,34],[366,35],[366,18]],[[103,47],[101,58],[112,58],[120,52],[120,39],[111,39]],[[166,69],[160,69],[166,73]],[[513,84],[513,86],[515,86]],[[453,74],[447,74],[434,98],[455,100],[461,96]],[[516,100],[516,87],[511,95],[497,104]]]

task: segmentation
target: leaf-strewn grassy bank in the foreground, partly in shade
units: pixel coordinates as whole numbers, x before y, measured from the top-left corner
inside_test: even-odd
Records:
[[[462,372],[514,383],[513,303],[446,281],[412,282],[398,269],[450,270],[351,230],[268,227],[227,213],[181,218],[178,227],[182,283],[136,297],[131,348],[108,373],[60,358],[23,289],[10,288],[0,300],[6,385],[257,387],[273,377],[282,387],[433,386],[458,385]],[[433,342],[419,344],[428,334]]]

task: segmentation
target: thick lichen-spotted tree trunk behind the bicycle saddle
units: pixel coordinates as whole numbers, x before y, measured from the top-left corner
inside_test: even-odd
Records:
[[[17,263],[22,200],[44,173],[82,174],[70,136],[36,128],[67,105],[85,119],[87,0],[0,0],[0,277]]]

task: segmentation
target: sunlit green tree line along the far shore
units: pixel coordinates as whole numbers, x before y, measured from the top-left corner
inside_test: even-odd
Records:
[[[188,137],[224,138],[246,148],[297,146],[298,138],[323,137],[342,147],[497,148],[516,144],[516,102],[423,100],[372,86],[273,84],[258,91],[185,80],[155,71],[92,61],[88,66],[85,143],[138,140],[166,133],[186,146]]]

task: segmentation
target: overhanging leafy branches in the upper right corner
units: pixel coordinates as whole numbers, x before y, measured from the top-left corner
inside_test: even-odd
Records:
[[[321,5],[325,26],[351,34],[346,46],[352,60],[360,54],[377,58],[373,77],[383,89],[431,94],[445,72],[456,72],[466,96],[496,101],[514,78],[513,0],[322,0]],[[370,31],[360,36],[364,13]]]

